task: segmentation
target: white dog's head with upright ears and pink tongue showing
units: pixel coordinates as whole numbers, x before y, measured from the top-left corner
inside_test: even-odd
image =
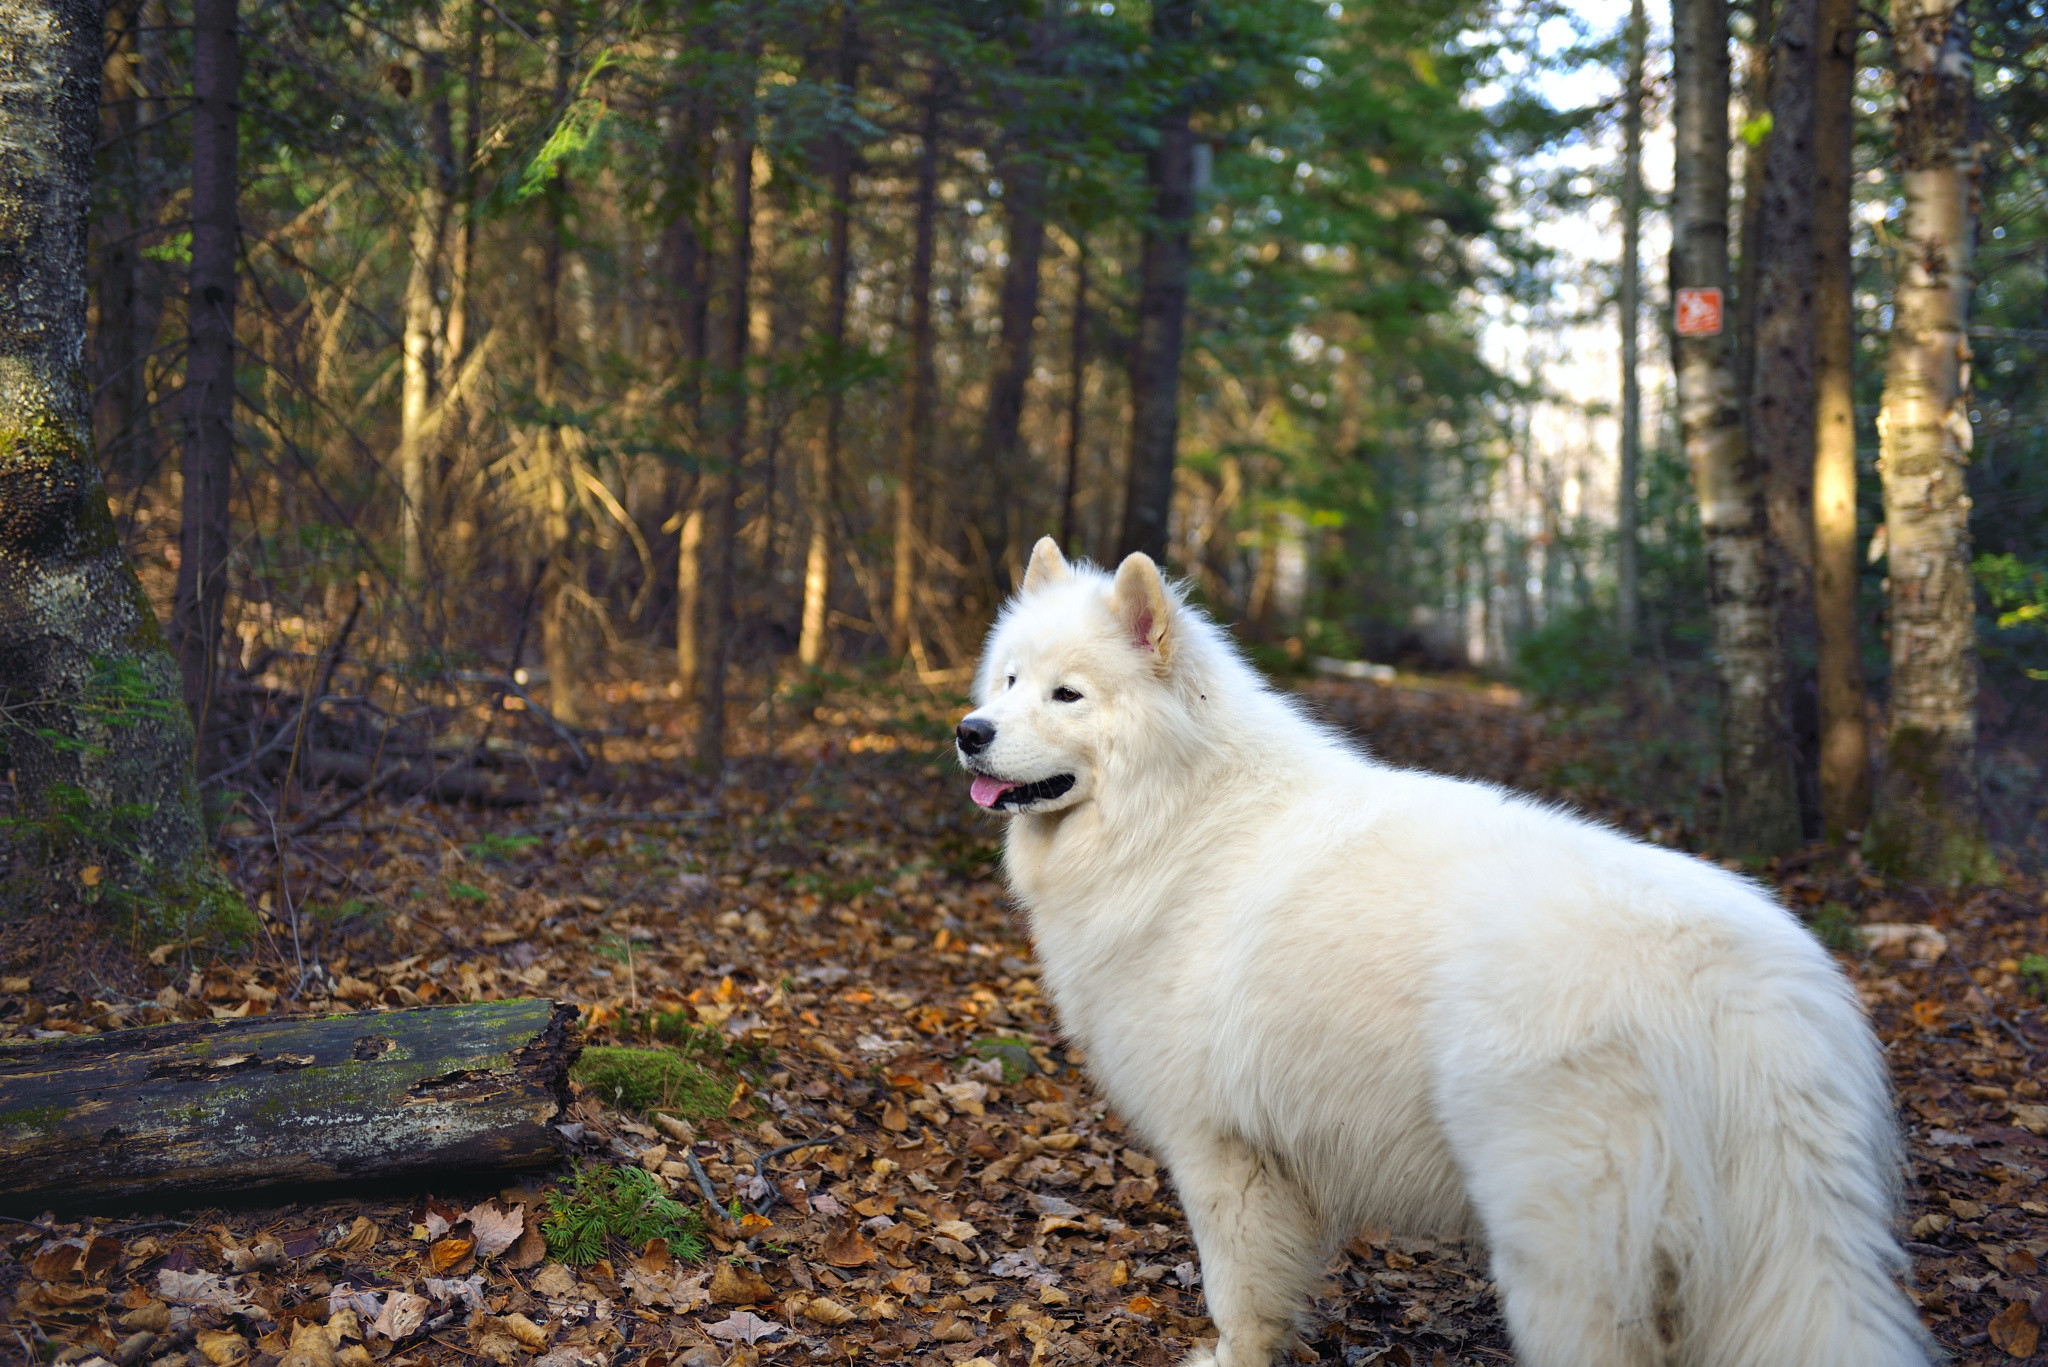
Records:
[[[954,728],[973,799],[1047,814],[1094,797],[1114,736],[1167,693],[1186,611],[1149,555],[1126,557],[1112,578],[1038,541],[989,633],[977,707]]]

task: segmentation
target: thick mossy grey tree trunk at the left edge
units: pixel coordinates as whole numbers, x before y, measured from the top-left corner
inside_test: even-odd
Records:
[[[88,859],[186,922],[240,906],[207,853],[178,666],[92,451],[100,55],[96,2],[0,0],[0,740],[23,816],[68,816],[61,830]]]

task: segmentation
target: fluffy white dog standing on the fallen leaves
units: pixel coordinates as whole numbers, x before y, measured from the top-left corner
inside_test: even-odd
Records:
[[[956,732],[1063,1029],[1266,1367],[1364,1224],[1477,1236],[1526,1367],[1896,1367],[1898,1137],[1749,881],[1300,711],[1145,555],[1038,543]]]

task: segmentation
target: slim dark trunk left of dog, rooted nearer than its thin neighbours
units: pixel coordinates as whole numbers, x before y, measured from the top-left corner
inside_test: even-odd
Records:
[[[748,68],[754,70],[754,55]],[[711,365],[715,385],[711,398],[713,432],[719,441],[719,465],[711,471],[705,500],[711,514],[711,539],[705,545],[702,578],[711,588],[705,625],[709,650],[702,660],[700,705],[696,728],[696,767],[717,777],[725,771],[725,674],[731,668],[737,619],[733,598],[739,572],[739,475],[748,459],[748,332],[752,324],[750,275],[754,271],[754,105],[741,107],[741,125],[733,131],[731,191],[733,242],[725,264],[725,316],[717,355]]]

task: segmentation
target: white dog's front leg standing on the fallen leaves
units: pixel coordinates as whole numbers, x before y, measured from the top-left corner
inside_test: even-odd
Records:
[[[1174,1154],[1171,1170],[1219,1332],[1214,1353],[1194,1353],[1186,1367],[1268,1367],[1317,1273],[1315,1211],[1264,1154],[1237,1140]]]

